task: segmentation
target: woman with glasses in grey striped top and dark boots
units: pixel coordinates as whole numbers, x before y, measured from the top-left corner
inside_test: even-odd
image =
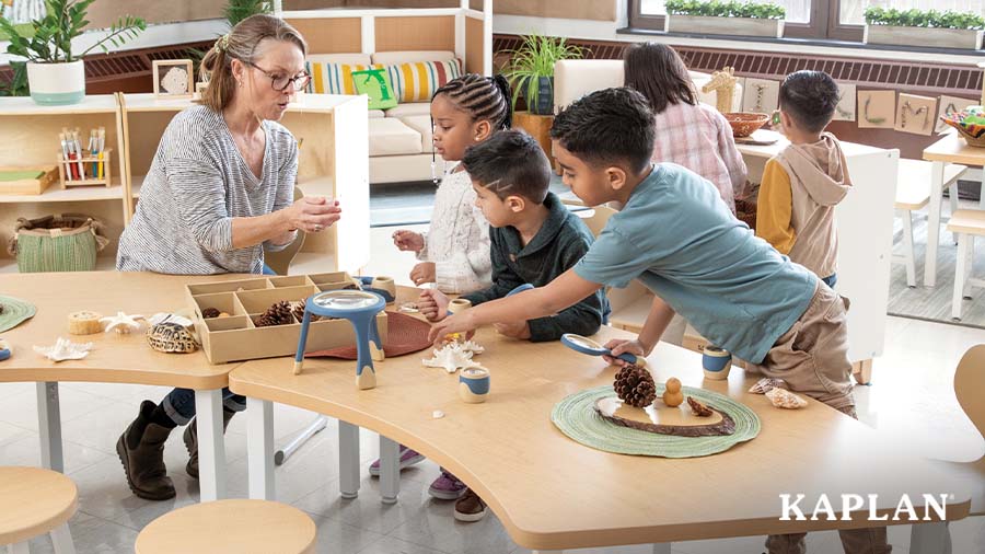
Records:
[[[269,15],[243,20],[206,54],[209,85],[200,105],[179,113],[161,137],[140,204],[119,240],[116,268],[182,275],[264,273],[264,249],[283,249],[298,230],[335,223],[338,203],[293,201],[294,137],[277,122],[310,77],[308,45],[291,25]],[[245,399],[223,391],[223,423]],[[147,400],[116,443],[135,495],[175,496],[164,466],[164,441],[188,425],[187,473],[198,477],[195,395],[174,389],[160,404]]]

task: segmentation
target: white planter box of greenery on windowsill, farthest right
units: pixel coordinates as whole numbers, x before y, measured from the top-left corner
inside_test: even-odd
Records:
[[[985,19],[973,12],[887,10],[870,5],[866,9],[864,42],[977,50],[982,48],[983,28]]]

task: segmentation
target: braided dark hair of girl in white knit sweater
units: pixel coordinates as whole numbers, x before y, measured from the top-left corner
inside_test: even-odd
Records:
[[[431,100],[444,94],[473,119],[488,119],[493,129],[513,126],[513,108],[510,103],[510,83],[502,76],[483,77],[465,73],[444,83]]]

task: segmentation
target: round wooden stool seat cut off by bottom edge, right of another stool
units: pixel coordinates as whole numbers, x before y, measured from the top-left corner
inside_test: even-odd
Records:
[[[137,554],[309,554],[315,524],[303,511],[269,500],[195,504],[153,520],[137,535]]]

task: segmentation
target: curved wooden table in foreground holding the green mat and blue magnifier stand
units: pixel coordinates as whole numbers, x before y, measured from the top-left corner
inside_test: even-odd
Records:
[[[412,290],[401,289],[397,305],[413,298]],[[596,339],[618,336],[629,335],[605,327]],[[382,468],[381,478],[386,480],[389,472],[389,478],[396,480],[396,442],[418,450],[474,488],[513,541],[533,550],[885,524],[866,521],[868,506],[851,510],[862,518],[857,521],[779,521],[780,494],[806,495],[799,506],[808,518],[821,494],[838,512],[842,494],[877,494],[880,515],[892,515],[901,496],[908,494],[923,516],[925,492],[954,494],[948,500],[947,519],[967,515],[966,493],[864,424],[814,401],[800,411],[774,408],[765,396],[746,392],[755,378],[746,378],[739,368],[727,382],[705,381],[700,356],[668,344],[660,344],[648,358],[658,381],[677,377],[685,385],[743,402],[762,419],[760,436],[717,455],[684,460],[583,447],[554,427],[551,411],[571,393],[611,383],[613,368],[560,343],[518,342],[489,328],[480,330],[476,341],[486,347],[477,359],[493,374],[484,404],[459,400],[457,376],[422,367],[427,351],[376,362],[378,385],[368,391],[354,384],[354,361],[310,359],[297,377],[287,358],[254,360],[234,369],[230,388],[252,403],[251,497],[274,499],[273,446],[263,438],[271,432],[270,422],[254,409],[255,404],[273,401],[390,437],[392,461]],[[434,419],[436,409],[444,417]],[[358,485],[358,466],[355,470]],[[344,492],[352,478],[343,472]],[[940,533],[942,528],[914,526],[917,532]],[[670,547],[662,544],[656,552]]]

